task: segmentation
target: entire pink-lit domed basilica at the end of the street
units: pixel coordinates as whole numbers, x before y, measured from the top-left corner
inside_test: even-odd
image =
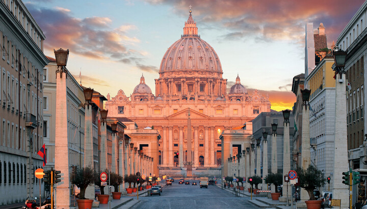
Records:
[[[162,58],[155,94],[142,76],[130,97],[120,89],[115,97],[108,95],[106,102],[109,117],[127,117],[139,128],[159,131],[159,164],[169,169],[185,169],[189,110],[194,168],[220,166],[222,132],[246,129],[247,124],[252,133],[253,118],[270,111],[268,96],[256,90],[248,94],[239,76],[227,92],[219,56],[198,35],[191,13],[183,35]]]

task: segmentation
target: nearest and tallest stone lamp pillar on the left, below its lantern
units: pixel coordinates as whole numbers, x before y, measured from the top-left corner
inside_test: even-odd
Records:
[[[55,170],[59,170],[61,171],[62,174],[64,174],[61,178],[61,182],[58,183],[56,187],[57,195],[55,199],[55,206],[57,208],[69,208],[70,206],[66,75],[67,74],[63,73],[63,71],[61,71],[61,74],[56,73],[56,109],[57,111],[55,115],[55,127],[56,127],[55,138],[57,140],[55,140]],[[5,175],[7,175],[7,173],[5,173]]]

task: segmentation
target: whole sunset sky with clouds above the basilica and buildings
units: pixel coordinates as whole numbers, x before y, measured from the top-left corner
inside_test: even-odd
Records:
[[[328,47],[362,0],[24,0],[46,39],[44,54],[69,49],[67,69],[82,85],[129,96],[143,74],[154,79],[166,50],[183,34],[191,5],[201,39],[217,52],[227,87],[237,74],[274,110],[292,109],[294,76],[304,73],[305,24],[325,26]]]

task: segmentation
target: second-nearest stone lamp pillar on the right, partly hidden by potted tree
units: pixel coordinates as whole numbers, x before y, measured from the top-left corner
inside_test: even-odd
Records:
[[[345,89],[344,89],[344,91],[345,91]],[[338,104],[338,105],[341,105],[341,104]],[[336,127],[335,127],[335,130],[336,130]],[[311,161],[310,138],[309,137],[310,137],[310,135],[309,135],[309,106],[308,105],[307,106],[302,105],[301,167],[303,169],[307,169],[308,166],[310,165],[310,161]],[[337,152],[337,153],[339,154],[339,152]],[[340,178],[340,179],[342,179],[342,178]],[[335,199],[334,194],[333,194],[333,198]],[[308,195],[308,193],[305,189],[301,189],[301,202],[304,202],[306,200],[309,200],[309,195]],[[348,200],[348,202],[349,202],[349,200]]]

